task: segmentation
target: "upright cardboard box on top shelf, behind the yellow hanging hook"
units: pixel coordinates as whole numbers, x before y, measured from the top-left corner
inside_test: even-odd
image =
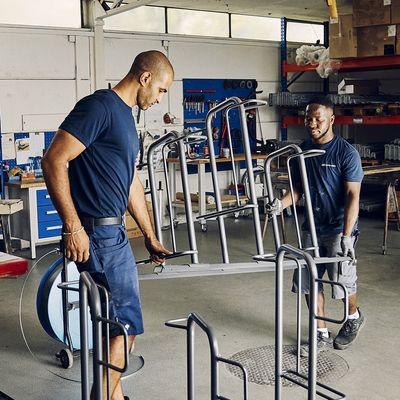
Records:
[[[352,15],[340,15],[329,24],[329,57],[357,57],[357,30]]]

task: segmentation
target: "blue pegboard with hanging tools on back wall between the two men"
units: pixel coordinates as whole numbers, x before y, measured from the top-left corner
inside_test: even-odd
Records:
[[[229,97],[239,97],[242,100],[256,97],[257,81],[254,79],[183,79],[183,117],[184,128],[193,130],[204,129],[208,111],[216,104]],[[254,123],[253,123],[254,122]],[[239,114],[236,109],[229,112],[229,124],[232,135],[232,146],[235,154],[243,153],[243,144],[240,131]],[[214,151],[220,155],[223,147],[228,147],[226,136],[224,137],[223,113],[219,112],[213,120],[215,129]],[[250,145],[253,150],[256,147],[256,124],[249,121],[248,126]],[[207,135],[203,132],[203,135]],[[194,151],[199,157],[204,156],[204,145],[196,145]],[[218,165],[218,169],[229,168]],[[194,171],[190,171],[194,172]]]

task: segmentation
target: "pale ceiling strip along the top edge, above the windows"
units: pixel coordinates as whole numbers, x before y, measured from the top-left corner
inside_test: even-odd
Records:
[[[160,0],[151,5],[220,11],[264,17],[287,17],[310,21],[327,21],[326,0]],[[351,13],[351,0],[337,0],[339,14]]]

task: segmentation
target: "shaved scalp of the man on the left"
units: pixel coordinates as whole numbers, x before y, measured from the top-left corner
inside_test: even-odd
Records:
[[[151,72],[155,76],[165,73],[173,78],[174,69],[168,58],[157,50],[144,51],[136,56],[129,73],[134,77],[140,77],[144,72]]]

